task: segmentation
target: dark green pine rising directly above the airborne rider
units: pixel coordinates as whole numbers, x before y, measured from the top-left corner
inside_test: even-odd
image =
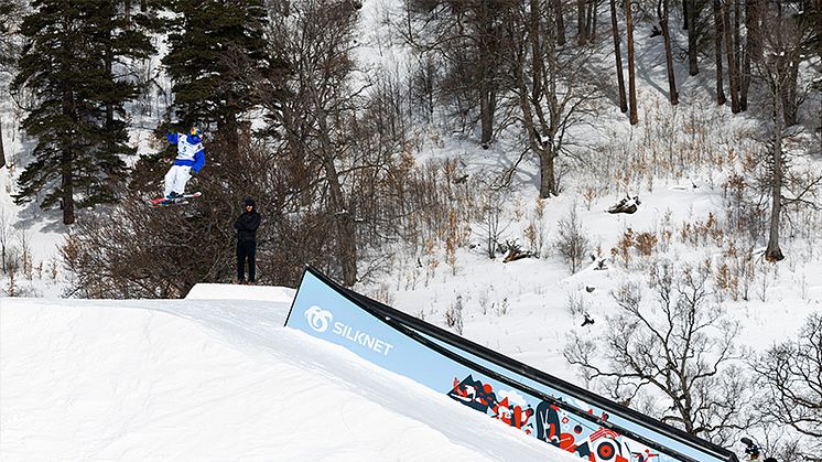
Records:
[[[184,126],[216,122],[236,150],[238,118],[258,103],[251,76],[271,67],[264,3],[174,0],[171,9],[179,18],[170,25],[163,63],[174,82],[177,117]]]

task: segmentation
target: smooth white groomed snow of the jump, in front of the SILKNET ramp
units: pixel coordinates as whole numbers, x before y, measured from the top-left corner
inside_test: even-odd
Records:
[[[0,299],[0,460],[578,462],[282,327],[292,297]]]

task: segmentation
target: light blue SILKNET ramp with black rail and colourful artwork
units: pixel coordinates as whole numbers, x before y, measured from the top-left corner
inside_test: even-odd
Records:
[[[306,267],[285,325],[590,462],[738,462],[634,409],[348,290]]]

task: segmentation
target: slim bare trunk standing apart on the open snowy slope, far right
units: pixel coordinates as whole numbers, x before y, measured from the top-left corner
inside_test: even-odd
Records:
[[[778,64],[779,65],[779,64]],[[782,212],[782,98],[781,71],[777,71],[777,79],[774,88],[774,152],[771,152],[772,171],[770,179],[770,230],[768,233],[768,248],[765,250],[765,259],[779,261],[785,258],[779,248],[779,216]]]

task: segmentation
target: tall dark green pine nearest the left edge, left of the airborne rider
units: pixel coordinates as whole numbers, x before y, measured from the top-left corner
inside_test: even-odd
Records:
[[[20,175],[20,204],[41,200],[60,204],[63,223],[74,208],[112,202],[125,180],[122,105],[136,95],[132,84],[115,78],[123,56],[142,56],[143,35],[123,32],[122,15],[106,0],[36,0],[21,26],[26,44],[12,87],[26,87],[37,106],[23,129],[37,139],[35,160]]]

